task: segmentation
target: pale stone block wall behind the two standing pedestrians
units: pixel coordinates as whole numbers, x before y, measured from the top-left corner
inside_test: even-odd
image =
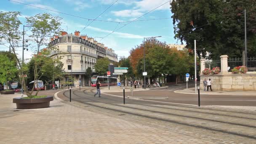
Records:
[[[203,80],[211,79],[213,91],[256,91],[256,72],[247,74],[200,75],[200,89],[203,89]]]

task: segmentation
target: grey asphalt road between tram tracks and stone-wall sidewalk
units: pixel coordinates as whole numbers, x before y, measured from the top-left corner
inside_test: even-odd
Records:
[[[189,88],[194,87],[193,82],[189,83]],[[186,83],[179,85],[169,85],[168,88],[149,89],[149,91],[135,91],[133,96],[142,99],[154,99],[154,101],[164,101],[179,104],[198,104],[198,95],[174,93],[173,91],[186,88]],[[256,106],[256,96],[230,96],[230,95],[200,95],[201,105],[226,105],[226,106]],[[108,93],[117,96],[123,96],[123,92]],[[126,96],[131,96],[131,92],[125,92]],[[168,99],[164,99],[168,97]]]

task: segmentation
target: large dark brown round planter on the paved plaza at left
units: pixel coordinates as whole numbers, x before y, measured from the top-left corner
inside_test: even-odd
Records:
[[[53,96],[38,99],[21,99],[13,98],[13,103],[16,103],[17,109],[40,109],[50,107],[50,101],[53,101]]]

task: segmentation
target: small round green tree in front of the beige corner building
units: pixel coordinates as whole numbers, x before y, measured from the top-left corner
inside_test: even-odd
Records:
[[[97,60],[97,63],[94,65],[95,71],[99,75],[106,75],[108,69],[109,69],[109,59],[107,57],[101,58]]]

